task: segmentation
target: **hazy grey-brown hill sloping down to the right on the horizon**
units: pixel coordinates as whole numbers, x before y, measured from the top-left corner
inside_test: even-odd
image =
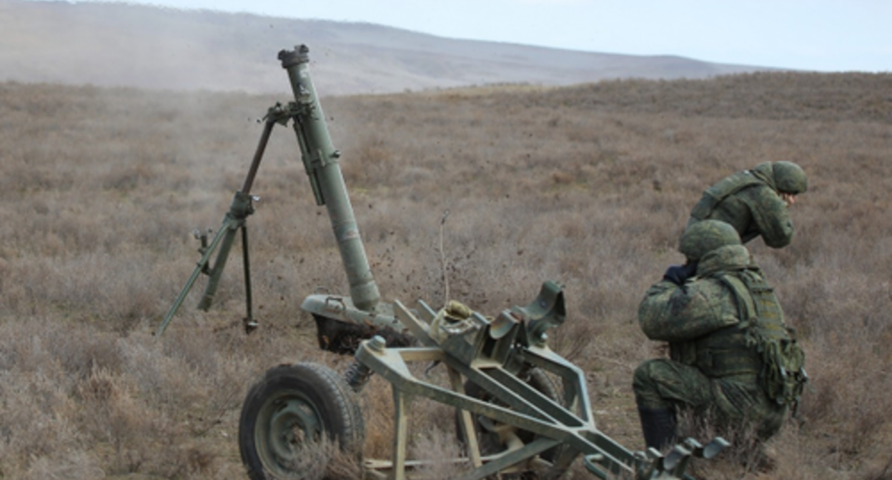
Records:
[[[280,91],[276,53],[310,46],[321,95],[503,83],[703,79],[769,70],[435,37],[369,23],[112,3],[0,0],[0,81]]]

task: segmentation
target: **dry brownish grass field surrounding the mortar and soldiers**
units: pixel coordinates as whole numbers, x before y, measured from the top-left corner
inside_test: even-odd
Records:
[[[217,228],[242,185],[257,118],[290,100],[284,73],[282,86],[275,97],[0,84],[0,478],[244,478],[236,434],[250,385],[283,362],[347,365],[318,350],[299,308],[346,281],[288,128],[252,190],[260,328],[241,327],[235,250],[213,309],[194,310],[196,288],[152,335],[199,258],[191,231]],[[810,188],[793,244],[750,245],[812,382],[800,418],[771,441],[775,468],[729,455],[698,476],[892,478],[892,75],[487,87],[323,107],[384,299],[442,305],[446,277],[450,298],[491,315],[563,282],[569,313],[552,347],[587,372],[599,427],[632,449],[643,447],[632,370],[660,354],[638,303],[682,261],[690,207],[731,171],[797,161]],[[368,454],[389,449],[380,383],[363,397]],[[418,412],[451,424],[449,411]],[[430,430],[414,452],[452,448]]]

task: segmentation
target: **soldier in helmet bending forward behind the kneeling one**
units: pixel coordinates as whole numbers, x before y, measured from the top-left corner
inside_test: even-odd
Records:
[[[744,244],[762,236],[772,248],[793,239],[788,207],[808,189],[805,171],[792,161],[766,161],[710,186],[690,211],[688,226],[705,219],[730,223]]]

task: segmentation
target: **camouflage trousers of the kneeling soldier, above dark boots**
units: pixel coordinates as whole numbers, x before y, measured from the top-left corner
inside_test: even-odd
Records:
[[[785,406],[768,399],[756,375],[710,378],[699,368],[668,359],[641,363],[632,389],[641,409],[714,412],[728,426],[756,426],[763,438],[777,433],[787,416]]]

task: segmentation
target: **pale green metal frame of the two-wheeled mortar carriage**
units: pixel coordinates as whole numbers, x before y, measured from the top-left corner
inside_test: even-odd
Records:
[[[543,293],[559,290],[560,286],[553,282],[546,282],[542,288]],[[542,298],[543,294],[530,305],[541,305]],[[722,439],[716,439],[702,447],[689,439],[664,456],[657,451],[630,451],[599,431],[589,410],[589,395],[582,370],[552,352],[546,344],[531,341],[533,332],[539,335],[544,333],[542,324],[537,322],[553,326],[560,323],[563,313],[558,312],[564,311],[564,302],[562,295],[559,298],[552,305],[552,310],[541,310],[538,318],[522,313],[531,311],[528,308],[506,310],[504,315],[516,319],[508,332],[501,331],[504,327],[498,322],[474,313],[467,318],[467,325],[471,327],[446,338],[433,332],[439,327],[437,314],[424,302],[419,302],[416,309],[418,314],[401,302],[394,302],[397,318],[424,346],[386,348],[384,340],[379,337],[359,345],[356,360],[392,385],[395,406],[392,462],[371,462],[367,467],[386,470],[391,478],[407,478],[405,449],[409,432],[406,426],[409,425],[411,411],[408,402],[413,398],[437,401],[467,412],[471,418],[489,418],[492,422],[536,434],[532,442],[498,455],[480,457],[479,451],[469,451],[467,461],[472,462],[475,468],[458,477],[462,480],[477,480],[518,466],[524,469],[536,463],[546,468],[566,468],[580,455],[591,473],[604,479],[690,480],[692,477],[685,470],[692,457],[710,458],[727,445]],[[428,321],[419,316],[426,317]],[[505,344],[510,348],[501,348]],[[409,367],[413,362],[443,365],[448,368],[450,378],[466,378],[481,385],[501,404],[467,396],[457,388],[461,382],[454,379],[450,382],[450,389],[418,378]],[[519,372],[529,368],[541,368],[549,375],[562,379],[565,393],[562,401],[551,399],[527,385]],[[462,423],[465,424],[466,420],[463,419]],[[466,425],[462,430],[467,435],[472,429]],[[477,444],[474,438],[466,436],[463,440],[472,448]],[[558,445],[563,445],[566,451],[554,464],[540,458],[542,452]],[[480,459],[479,463],[473,462],[475,455]]]

